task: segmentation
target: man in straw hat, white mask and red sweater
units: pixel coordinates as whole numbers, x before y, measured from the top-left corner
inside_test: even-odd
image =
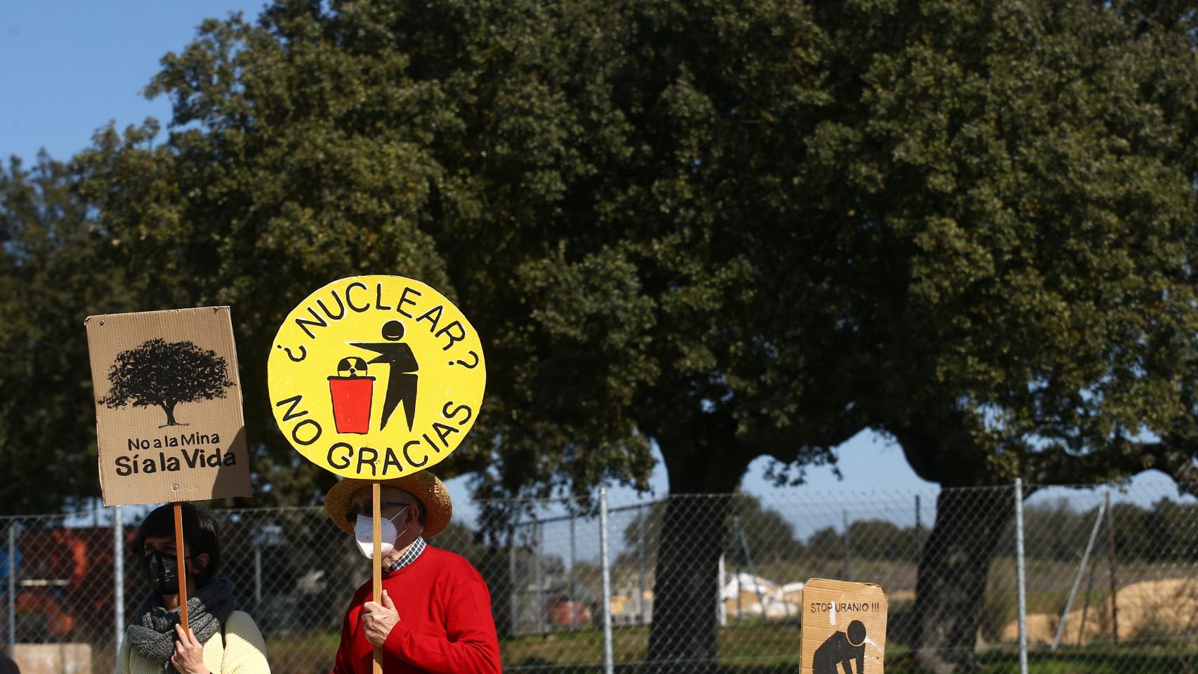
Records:
[[[500,642],[491,594],[460,554],[424,542],[449,523],[453,503],[428,470],[383,480],[382,602],[369,601],[368,581],[350,601],[341,623],[334,674],[371,674],[374,648],[382,648],[385,674],[498,674]],[[325,497],[329,518],[374,554],[371,488],[368,480],[341,480]]]

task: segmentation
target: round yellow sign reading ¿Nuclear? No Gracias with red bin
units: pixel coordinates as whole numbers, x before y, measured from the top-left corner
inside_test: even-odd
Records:
[[[352,277],[301,302],[267,363],[292,447],[346,478],[389,479],[443,461],[474,424],[486,366],[478,333],[440,292]]]

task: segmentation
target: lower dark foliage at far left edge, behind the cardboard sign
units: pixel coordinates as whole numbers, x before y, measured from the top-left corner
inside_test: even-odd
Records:
[[[53,512],[98,496],[84,318],[129,310],[111,241],[48,157],[0,166],[0,514]],[[54,488],[47,488],[53,484]]]

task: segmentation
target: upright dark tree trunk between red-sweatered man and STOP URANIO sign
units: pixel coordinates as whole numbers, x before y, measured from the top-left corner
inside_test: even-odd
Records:
[[[720,551],[727,540],[730,494],[745,464],[732,443],[661,448],[671,496],[658,541],[646,670],[716,672]]]

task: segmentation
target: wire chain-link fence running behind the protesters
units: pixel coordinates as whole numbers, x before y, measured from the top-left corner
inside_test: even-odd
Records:
[[[605,517],[507,503],[520,515],[506,528],[455,522],[432,545],[488,581],[506,672],[795,672],[811,577],[882,585],[891,673],[1018,672],[1015,493],[610,499]],[[1029,669],[1198,670],[1198,503],[1166,484],[1023,494]],[[125,510],[121,524],[114,509],[0,520],[0,638],[25,674],[113,669],[121,623],[149,591],[129,545],[138,512]],[[218,515],[222,572],[272,670],[328,672],[369,563],[321,508]]]

